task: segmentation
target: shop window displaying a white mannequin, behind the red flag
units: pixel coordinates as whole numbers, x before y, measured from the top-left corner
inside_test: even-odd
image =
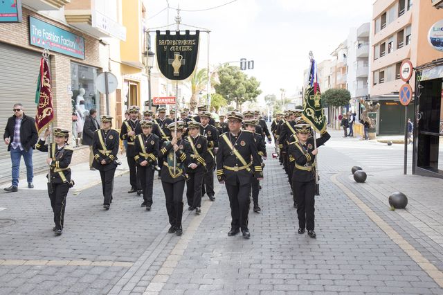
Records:
[[[96,88],[98,69],[71,62],[71,103],[74,146],[80,145],[84,118],[89,110],[96,109],[100,116],[100,95]]]

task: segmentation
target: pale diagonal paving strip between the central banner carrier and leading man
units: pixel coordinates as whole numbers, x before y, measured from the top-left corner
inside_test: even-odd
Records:
[[[219,193],[221,187],[222,186],[218,186],[218,188],[216,188],[215,195]],[[213,202],[204,202],[203,206],[201,206],[201,215],[195,216],[189,223],[188,228],[183,229],[183,235],[181,235],[179,242],[177,242],[168,258],[166,258],[159,271],[157,271],[157,274],[154,276],[154,278],[152,278],[150,285],[147,285],[143,294],[157,295],[161,292],[161,289],[163,289],[163,286],[169,280],[172,271],[174,271],[174,268],[181,260],[183,253],[185,253],[186,248],[188,248],[190,240],[192,240],[197,232],[197,229],[199,229],[201,222],[206,217],[206,214],[208,213],[212,204]]]

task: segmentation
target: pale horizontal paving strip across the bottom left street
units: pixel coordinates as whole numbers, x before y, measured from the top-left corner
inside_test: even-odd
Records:
[[[91,260],[2,260],[0,265],[37,265],[37,266],[100,266],[100,267],[132,267],[134,263],[125,261],[91,261]]]

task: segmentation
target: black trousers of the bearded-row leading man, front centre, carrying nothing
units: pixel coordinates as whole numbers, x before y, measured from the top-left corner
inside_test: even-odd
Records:
[[[232,217],[231,229],[248,229],[251,183],[243,186],[238,183],[235,186],[225,183],[225,186],[229,197],[230,216]]]

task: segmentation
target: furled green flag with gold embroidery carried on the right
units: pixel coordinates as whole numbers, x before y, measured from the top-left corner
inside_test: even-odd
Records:
[[[325,111],[321,105],[320,84],[318,84],[317,63],[311,60],[305,97],[303,98],[302,118],[322,134],[326,130]]]

